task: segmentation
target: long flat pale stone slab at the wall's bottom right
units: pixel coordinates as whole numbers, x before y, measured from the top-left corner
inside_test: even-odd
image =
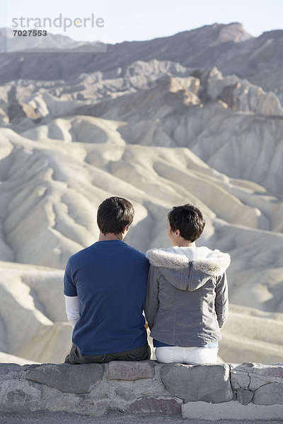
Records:
[[[247,406],[239,404],[237,401],[225,402],[224,404],[207,404],[206,402],[188,402],[182,406],[183,418],[202,420],[280,420],[283,416],[282,405],[255,405]],[[263,422],[263,421],[260,421]]]

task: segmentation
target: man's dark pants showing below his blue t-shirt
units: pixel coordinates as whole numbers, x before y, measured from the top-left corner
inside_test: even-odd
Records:
[[[73,343],[69,355],[65,358],[65,363],[89,364],[108,363],[111,360],[146,360],[150,359],[150,356],[151,349],[147,342],[144,346],[141,346],[141,348],[117,353],[105,353],[105,355],[82,355],[78,346]]]

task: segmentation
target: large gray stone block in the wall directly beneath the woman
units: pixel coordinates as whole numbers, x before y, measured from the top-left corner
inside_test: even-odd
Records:
[[[173,396],[186,401],[228,402],[233,399],[230,367],[219,365],[166,364],[161,380]]]

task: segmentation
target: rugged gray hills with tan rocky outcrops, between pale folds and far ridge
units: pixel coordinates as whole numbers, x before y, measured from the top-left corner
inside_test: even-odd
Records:
[[[127,144],[190,148],[216,170],[260,184],[282,199],[283,108],[274,93],[237,76],[224,77],[216,68],[197,76],[159,78],[164,64],[154,62],[142,78],[141,65],[131,67],[139,72],[135,86],[133,76],[125,81],[85,78],[81,91],[91,94],[81,100],[71,100],[69,90],[57,97],[54,88],[38,90],[27,81],[7,85],[0,92],[4,126],[33,140],[97,143],[105,137],[98,129],[86,129],[91,130],[88,119],[84,131],[78,120],[66,131],[59,118],[86,115],[123,122],[117,131]],[[121,84],[128,88],[120,91]]]

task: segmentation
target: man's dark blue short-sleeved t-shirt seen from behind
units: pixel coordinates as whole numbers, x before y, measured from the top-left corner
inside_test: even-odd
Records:
[[[83,355],[139,348],[147,334],[142,314],[149,261],[120,240],[96,242],[69,258],[64,294],[78,296],[73,342]]]

